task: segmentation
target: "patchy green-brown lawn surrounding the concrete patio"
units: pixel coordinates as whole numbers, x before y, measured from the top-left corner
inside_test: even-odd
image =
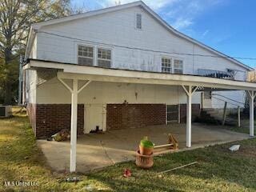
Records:
[[[17,115],[0,119],[0,191],[255,191],[256,139],[236,143],[242,146],[234,153],[228,150],[231,144],[210,146],[154,158],[150,170],[126,162],[87,175],[72,174],[81,182],[66,182],[70,175],[50,170],[26,116]],[[199,163],[156,175],[194,161]],[[122,177],[125,168],[132,177]],[[39,186],[4,186],[5,181]]]

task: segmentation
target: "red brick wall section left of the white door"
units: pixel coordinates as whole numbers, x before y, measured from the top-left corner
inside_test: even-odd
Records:
[[[36,128],[34,129],[36,137],[47,138],[59,130],[70,130],[70,117],[70,104],[36,104]],[[30,117],[32,121],[34,121],[33,118]],[[83,134],[83,125],[84,105],[78,104],[78,134]]]

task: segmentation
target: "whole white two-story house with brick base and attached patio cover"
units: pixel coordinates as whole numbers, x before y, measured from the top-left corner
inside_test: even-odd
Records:
[[[244,102],[248,91],[254,98],[250,70],[133,2],[33,24],[23,102],[38,138],[71,127],[74,171],[77,133],[95,129],[186,122],[190,147],[191,119],[202,107],[224,105],[210,94]],[[250,114],[253,136],[252,107]]]

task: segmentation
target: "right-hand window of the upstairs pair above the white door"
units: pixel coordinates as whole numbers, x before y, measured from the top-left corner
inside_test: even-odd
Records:
[[[98,48],[98,66],[110,68],[111,50]]]

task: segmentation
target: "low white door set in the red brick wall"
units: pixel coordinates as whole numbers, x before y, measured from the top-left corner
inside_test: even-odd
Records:
[[[106,131],[106,108],[104,105],[85,105],[85,133],[91,130]]]

